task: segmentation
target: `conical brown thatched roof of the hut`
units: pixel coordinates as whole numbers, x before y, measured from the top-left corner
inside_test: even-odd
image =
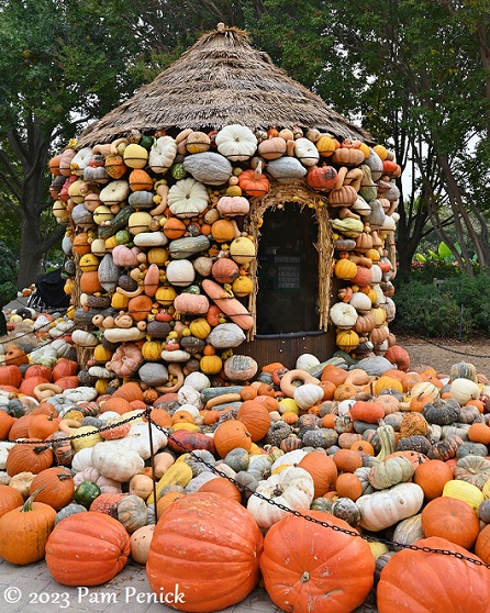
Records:
[[[132,130],[316,127],[342,138],[369,141],[270,57],[254,49],[246,33],[219,24],[132,98],[93,122],[78,146],[126,136]]]

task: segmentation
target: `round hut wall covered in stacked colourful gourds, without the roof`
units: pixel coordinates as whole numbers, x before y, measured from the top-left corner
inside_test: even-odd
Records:
[[[194,370],[254,377],[240,346],[256,332],[263,215],[283,202],[315,212],[319,330],[354,355],[388,347],[400,167],[385,147],[234,124],[134,131],[49,166],[73,338],[101,391],[114,378],[169,391]]]

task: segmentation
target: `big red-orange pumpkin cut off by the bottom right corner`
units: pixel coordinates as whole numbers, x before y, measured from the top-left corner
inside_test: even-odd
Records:
[[[432,536],[416,540],[419,547],[447,549],[478,560],[463,547]],[[377,589],[379,613],[434,613],[435,611],[487,613],[490,570],[421,549],[403,549],[390,558]]]

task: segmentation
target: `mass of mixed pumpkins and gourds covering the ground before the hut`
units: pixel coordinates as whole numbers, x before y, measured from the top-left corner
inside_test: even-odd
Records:
[[[104,583],[131,556],[156,594],[179,586],[182,611],[231,606],[259,580],[285,611],[354,611],[375,594],[381,613],[487,611],[490,381],[389,350],[302,355],[232,386],[192,371],[152,400],[136,380],[100,393],[76,384],[75,361],[11,347],[0,556],[45,558],[66,586]],[[37,377],[51,382],[25,393]]]

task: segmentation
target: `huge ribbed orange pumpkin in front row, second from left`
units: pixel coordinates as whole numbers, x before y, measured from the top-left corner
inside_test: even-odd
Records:
[[[221,611],[257,584],[261,549],[260,531],[241,504],[212,492],[191,493],[158,520],[146,575],[157,597],[179,586],[185,602],[174,602],[175,609]]]

